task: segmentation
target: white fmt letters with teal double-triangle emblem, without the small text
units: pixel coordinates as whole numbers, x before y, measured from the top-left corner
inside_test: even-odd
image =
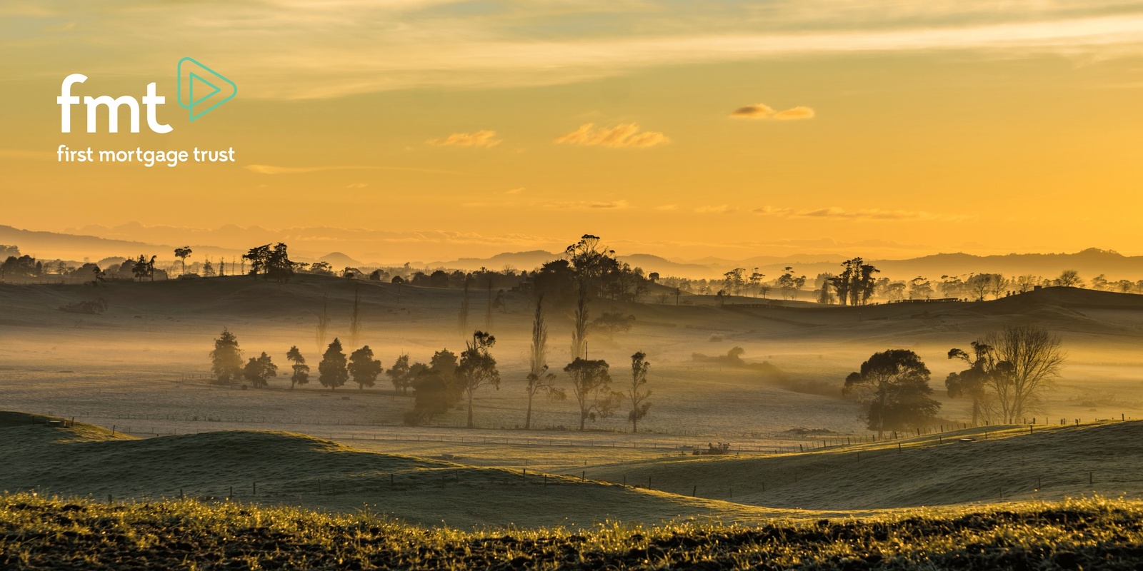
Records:
[[[190,57],[178,61],[176,74],[178,105],[187,110],[191,121],[209,113],[238,94],[238,86],[233,81]],[[87,81],[87,75],[72,73],[64,78],[63,85],[59,86],[59,97],[56,97],[56,103],[59,104],[59,132],[71,132],[71,107],[80,104],[79,96],[71,93],[72,86],[85,81]],[[219,86],[224,86],[225,90]],[[147,83],[146,95],[143,96],[143,106],[146,107],[146,126],[154,132],[162,134],[174,130],[169,124],[159,122],[157,106],[166,103],[166,97],[155,95],[155,83]],[[139,100],[135,97],[129,95],[120,97],[85,96],[83,105],[87,106],[87,132],[96,132],[97,130],[96,120],[99,105],[107,107],[107,132],[119,132],[119,108],[125,105],[130,113],[131,132],[139,131]]]

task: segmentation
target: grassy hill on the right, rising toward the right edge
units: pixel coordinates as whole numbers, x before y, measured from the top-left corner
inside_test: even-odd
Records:
[[[961,442],[970,439],[972,442]],[[1143,496],[1143,421],[952,431],[810,453],[674,457],[591,476],[772,508],[882,509]]]

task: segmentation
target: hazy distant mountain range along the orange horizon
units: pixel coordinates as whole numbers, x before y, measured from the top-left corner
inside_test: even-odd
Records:
[[[171,244],[153,244],[129,240],[105,239],[95,235],[64,234],[56,232],[37,232],[0,225],[0,244],[19,247],[24,254],[42,259],[63,258],[81,262],[85,258],[98,260],[112,256],[137,256],[139,254],[159,254],[160,259],[174,250]],[[182,244],[179,244],[182,246]],[[209,244],[191,244],[195,259],[206,257],[237,257],[245,250],[218,248]],[[291,249],[293,250],[293,249]],[[561,252],[529,250],[520,252],[503,252],[487,258],[458,258],[454,260],[414,263],[416,268],[448,268],[473,271],[486,267],[503,270],[511,266],[515,270],[534,270],[545,262],[557,259]],[[756,256],[742,260],[708,257],[693,260],[670,259],[653,254],[621,254],[620,259],[646,272],[657,272],[660,275],[690,279],[719,278],[724,273],[741,267],[748,273],[757,271],[774,279],[782,274],[783,268],[791,266],[798,275],[813,278],[821,273],[837,273],[846,259],[841,255],[794,255],[785,257]],[[335,268],[371,267],[375,263],[360,262],[342,252],[330,252],[325,256],[302,256],[301,262],[325,260]],[[996,256],[975,256],[972,254],[935,254],[909,259],[870,259],[881,271],[881,276],[909,280],[925,276],[937,280],[942,275],[964,275],[970,273],[1002,273],[1005,275],[1032,274],[1053,278],[1064,270],[1076,270],[1084,279],[1104,274],[1109,280],[1143,279],[1143,256],[1124,256],[1111,250],[1090,248],[1076,254],[1008,254]]]

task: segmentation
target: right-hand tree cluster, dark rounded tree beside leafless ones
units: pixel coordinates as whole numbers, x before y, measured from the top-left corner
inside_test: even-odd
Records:
[[[1032,325],[1010,325],[975,340],[970,351],[953,348],[949,359],[967,369],[949,373],[950,397],[972,399],[973,423],[1020,423],[1039,408],[1066,357],[1058,336]],[[932,397],[929,370],[909,349],[874,353],[846,377],[842,394],[865,405],[866,427],[886,431],[932,426],[941,403]]]

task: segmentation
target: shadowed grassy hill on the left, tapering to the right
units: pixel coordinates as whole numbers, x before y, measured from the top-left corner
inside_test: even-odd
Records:
[[[378,513],[425,524],[584,525],[777,512],[638,490],[574,476],[525,474],[445,460],[362,452],[290,433],[227,431],[130,439],[83,424],[7,412],[0,425],[0,489],[105,499],[234,498]],[[233,494],[233,496],[232,496]]]

